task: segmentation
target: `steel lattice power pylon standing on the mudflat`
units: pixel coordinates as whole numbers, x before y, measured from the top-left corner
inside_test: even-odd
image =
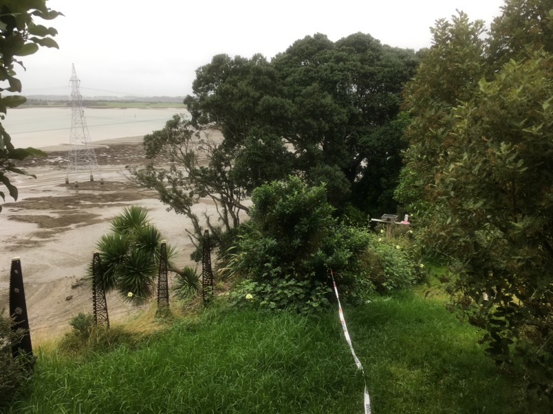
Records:
[[[100,175],[98,161],[94,148],[91,146],[90,135],[88,132],[85,111],[83,110],[83,97],[80,95],[80,80],[77,78],[75,64],[72,65],[71,79],[71,135],[69,137],[69,153],[67,154],[67,176],[65,183],[69,184],[69,179],[78,186],[79,171],[89,171],[90,181],[94,181],[94,172]],[[103,183],[103,180],[100,180]]]

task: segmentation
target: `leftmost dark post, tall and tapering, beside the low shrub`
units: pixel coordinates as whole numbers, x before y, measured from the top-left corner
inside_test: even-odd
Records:
[[[21,272],[21,260],[19,257],[12,259],[10,269],[10,317],[14,319],[12,330],[25,330],[21,340],[12,346],[14,358],[23,354],[28,360],[33,360],[31,332],[29,330],[29,318],[27,316],[27,303],[25,302],[25,289],[23,288],[23,273]]]

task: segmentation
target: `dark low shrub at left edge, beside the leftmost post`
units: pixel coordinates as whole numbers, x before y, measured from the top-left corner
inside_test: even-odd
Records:
[[[14,321],[0,312],[0,408],[11,400],[12,392],[21,383],[25,371],[19,358],[12,357],[12,346],[25,334],[25,330],[12,331]]]

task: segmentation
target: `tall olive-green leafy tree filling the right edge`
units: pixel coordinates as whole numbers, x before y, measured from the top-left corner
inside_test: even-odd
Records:
[[[545,12],[547,10],[547,12]],[[482,39],[439,21],[406,87],[413,115],[398,196],[425,253],[455,266],[453,298],[488,352],[550,395],[553,352],[552,1],[510,0]],[[536,32],[537,31],[537,32]]]

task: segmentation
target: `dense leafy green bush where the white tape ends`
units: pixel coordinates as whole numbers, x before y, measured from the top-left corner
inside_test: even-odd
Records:
[[[362,294],[359,257],[368,235],[332,217],[325,185],[308,187],[290,176],[257,187],[252,200],[251,219],[223,260],[223,272],[243,280],[233,294],[236,303],[297,310],[324,306],[330,269],[341,275],[345,297]]]

